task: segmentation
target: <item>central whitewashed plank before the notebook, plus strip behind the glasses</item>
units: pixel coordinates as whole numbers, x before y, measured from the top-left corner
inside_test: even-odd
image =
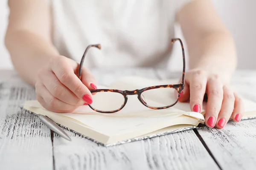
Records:
[[[124,72],[124,74],[122,74]],[[93,71],[96,79],[108,84],[127,75],[156,77],[153,69]],[[217,170],[211,158],[193,130],[173,133],[143,141],[113,147],[102,147],[67,131],[72,138],[68,142],[54,136],[53,152],[56,170]]]

